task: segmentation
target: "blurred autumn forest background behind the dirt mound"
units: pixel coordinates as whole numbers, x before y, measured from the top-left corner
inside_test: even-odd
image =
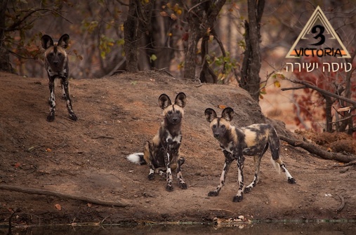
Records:
[[[0,48],[5,48],[11,64],[1,69],[46,77],[41,36],[59,39],[69,34],[71,79],[158,69],[197,83],[241,86],[266,116],[281,119],[292,130],[355,132],[355,104],[337,97],[355,100],[354,63],[350,72],[285,69],[287,51],[317,6],[352,55],[345,61],[352,62],[356,4],[350,1],[1,0],[0,4],[4,15]],[[128,46],[137,50],[133,51],[137,58],[128,58]],[[248,65],[256,67],[246,71]],[[294,79],[336,98],[294,86]]]

